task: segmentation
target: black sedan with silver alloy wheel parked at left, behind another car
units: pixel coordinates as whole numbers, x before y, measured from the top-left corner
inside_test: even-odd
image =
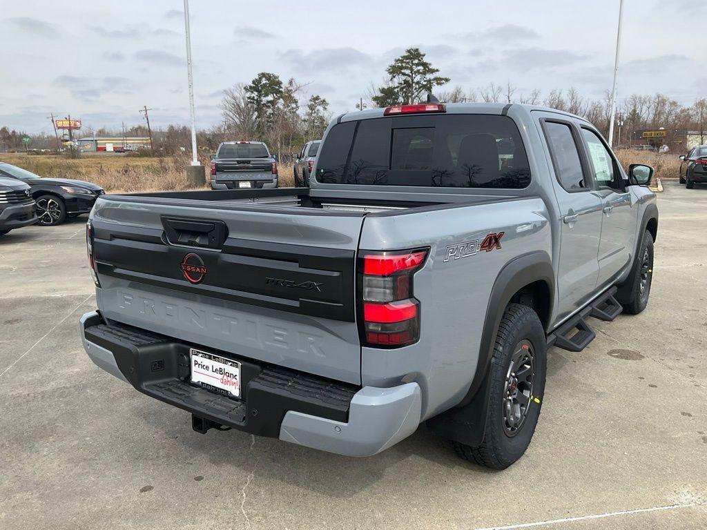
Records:
[[[90,212],[95,199],[104,194],[103,188],[85,180],[40,177],[15,165],[0,163],[0,177],[20,180],[30,187],[37,201],[39,224],[60,225],[66,218]]]

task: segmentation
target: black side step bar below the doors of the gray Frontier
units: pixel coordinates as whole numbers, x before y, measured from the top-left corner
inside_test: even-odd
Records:
[[[582,351],[597,334],[586,321],[587,317],[611,322],[621,314],[623,308],[614,298],[617,288],[612,287],[590,305],[575,314],[567,322],[559,326],[547,336],[547,346],[557,346],[567,351]]]

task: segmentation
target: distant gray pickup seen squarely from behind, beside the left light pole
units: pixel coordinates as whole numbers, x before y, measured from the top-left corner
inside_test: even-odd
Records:
[[[276,188],[277,162],[263,142],[233,141],[211,159],[211,189]]]

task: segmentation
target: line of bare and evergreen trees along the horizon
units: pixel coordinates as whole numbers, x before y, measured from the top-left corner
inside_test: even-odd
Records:
[[[600,98],[589,98],[574,87],[549,90],[534,89],[523,93],[512,81],[489,83],[486,86],[464,89],[455,86],[439,90],[451,79],[440,75],[419,48],[406,49],[386,69],[380,85],[368,88],[366,100],[370,107],[389,107],[425,100],[435,93],[441,102],[506,102],[543,105],[585,117],[595,124],[604,136],[609,132],[611,117],[609,90]],[[218,143],[233,139],[265,141],[279,158],[287,158],[293,151],[312,139],[322,136],[331,119],[329,103],[317,94],[307,93],[308,83],[294,78],[283,81],[276,73],[258,73],[250,83],[238,83],[223,91],[219,105],[222,122],[211,129],[197,133],[201,148],[213,150]],[[684,131],[699,131],[701,143],[707,142],[707,98],[694,105],[681,105],[667,95],[634,94],[617,102],[617,121],[614,127],[614,145],[641,143],[638,131],[665,129],[665,143],[675,145]],[[90,127],[81,136],[147,136],[145,126],[132,126],[125,131]],[[191,143],[187,126],[170,125],[153,129],[153,151],[173,153]],[[620,136],[619,136],[620,134]],[[23,136],[30,136],[31,148],[56,148],[56,140],[47,134],[26,135],[24,131],[0,128],[0,150],[23,149]]]

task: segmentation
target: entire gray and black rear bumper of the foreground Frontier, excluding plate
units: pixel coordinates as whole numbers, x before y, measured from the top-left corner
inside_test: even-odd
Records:
[[[366,457],[411,435],[421,420],[416,383],[360,388],[238,358],[243,399],[237,401],[189,384],[187,343],[106,324],[98,312],[84,314],[80,327],[83,348],[106,372],[199,418],[252,434]]]

